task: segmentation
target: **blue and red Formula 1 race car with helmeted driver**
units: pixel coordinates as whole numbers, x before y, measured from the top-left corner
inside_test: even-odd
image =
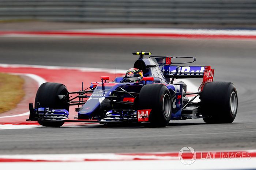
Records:
[[[29,104],[30,121],[48,127],[60,127],[65,122],[97,122],[100,124],[132,124],[165,127],[170,120],[203,118],[206,123],[232,123],[237,114],[237,90],[231,82],[213,82],[210,66],[177,66],[192,63],[194,57],[139,55],[125,77],[102,76],[87,89],[68,92],[63,84],[46,82]],[[176,58],[192,60],[173,63]],[[187,92],[187,85],[174,79],[203,78],[198,92]],[[74,96],[75,95],[75,96]],[[188,96],[194,97],[189,100]],[[199,102],[194,99],[199,96]],[[78,113],[69,119],[69,106],[78,105]]]

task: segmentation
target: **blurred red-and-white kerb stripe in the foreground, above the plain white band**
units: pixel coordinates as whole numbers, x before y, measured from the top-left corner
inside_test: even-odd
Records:
[[[197,156],[200,156],[200,153],[206,155],[207,153],[211,153],[213,151],[196,151]],[[236,153],[239,155],[237,158],[242,159],[242,154],[246,155],[249,153],[250,157],[244,157],[243,159],[251,159],[256,158],[254,153],[256,150],[226,150],[226,151],[214,151],[216,155],[221,155],[225,152],[230,152],[229,156],[224,154],[225,157],[216,157],[216,159],[232,159],[235,158]],[[231,156],[233,153],[233,157]],[[206,159],[206,157],[203,157]],[[147,153],[91,153],[91,154],[16,154],[16,155],[0,155],[1,159],[26,159],[31,161],[73,161],[73,162],[81,162],[81,161],[133,161],[133,160],[179,160],[177,152],[147,152]],[[199,160],[200,158],[196,158]],[[26,162],[26,161],[25,161]],[[256,165],[256,164],[255,164]]]

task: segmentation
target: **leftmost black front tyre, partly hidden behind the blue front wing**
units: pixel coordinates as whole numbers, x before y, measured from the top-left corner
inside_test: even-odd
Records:
[[[46,82],[42,84],[37,90],[37,94],[35,96],[35,105],[36,103],[40,103],[41,107],[48,107],[53,109],[66,109],[68,111],[69,104],[64,103],[59,99],[59,95],[67,96],[67,94],[68,90],[65,85],[60,83]],[[48,127],[60,127],[64,124],[64,121],[49,122],[38,120],[38,123]]]

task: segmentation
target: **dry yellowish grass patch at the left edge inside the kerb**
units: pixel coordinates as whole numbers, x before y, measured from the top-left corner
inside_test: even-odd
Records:
[[[14,109],[25,95],[20,76],[0,73],[0,113]]]

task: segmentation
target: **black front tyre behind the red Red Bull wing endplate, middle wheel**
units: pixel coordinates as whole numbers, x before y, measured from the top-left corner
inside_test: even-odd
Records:
[[[149,115],[149,123],[143,123],[146,127],[165,127],[171,119],[172,104],[171,95],[163,84],[147,84],[142,87],[139,94],[139,107],[152,109]]]

